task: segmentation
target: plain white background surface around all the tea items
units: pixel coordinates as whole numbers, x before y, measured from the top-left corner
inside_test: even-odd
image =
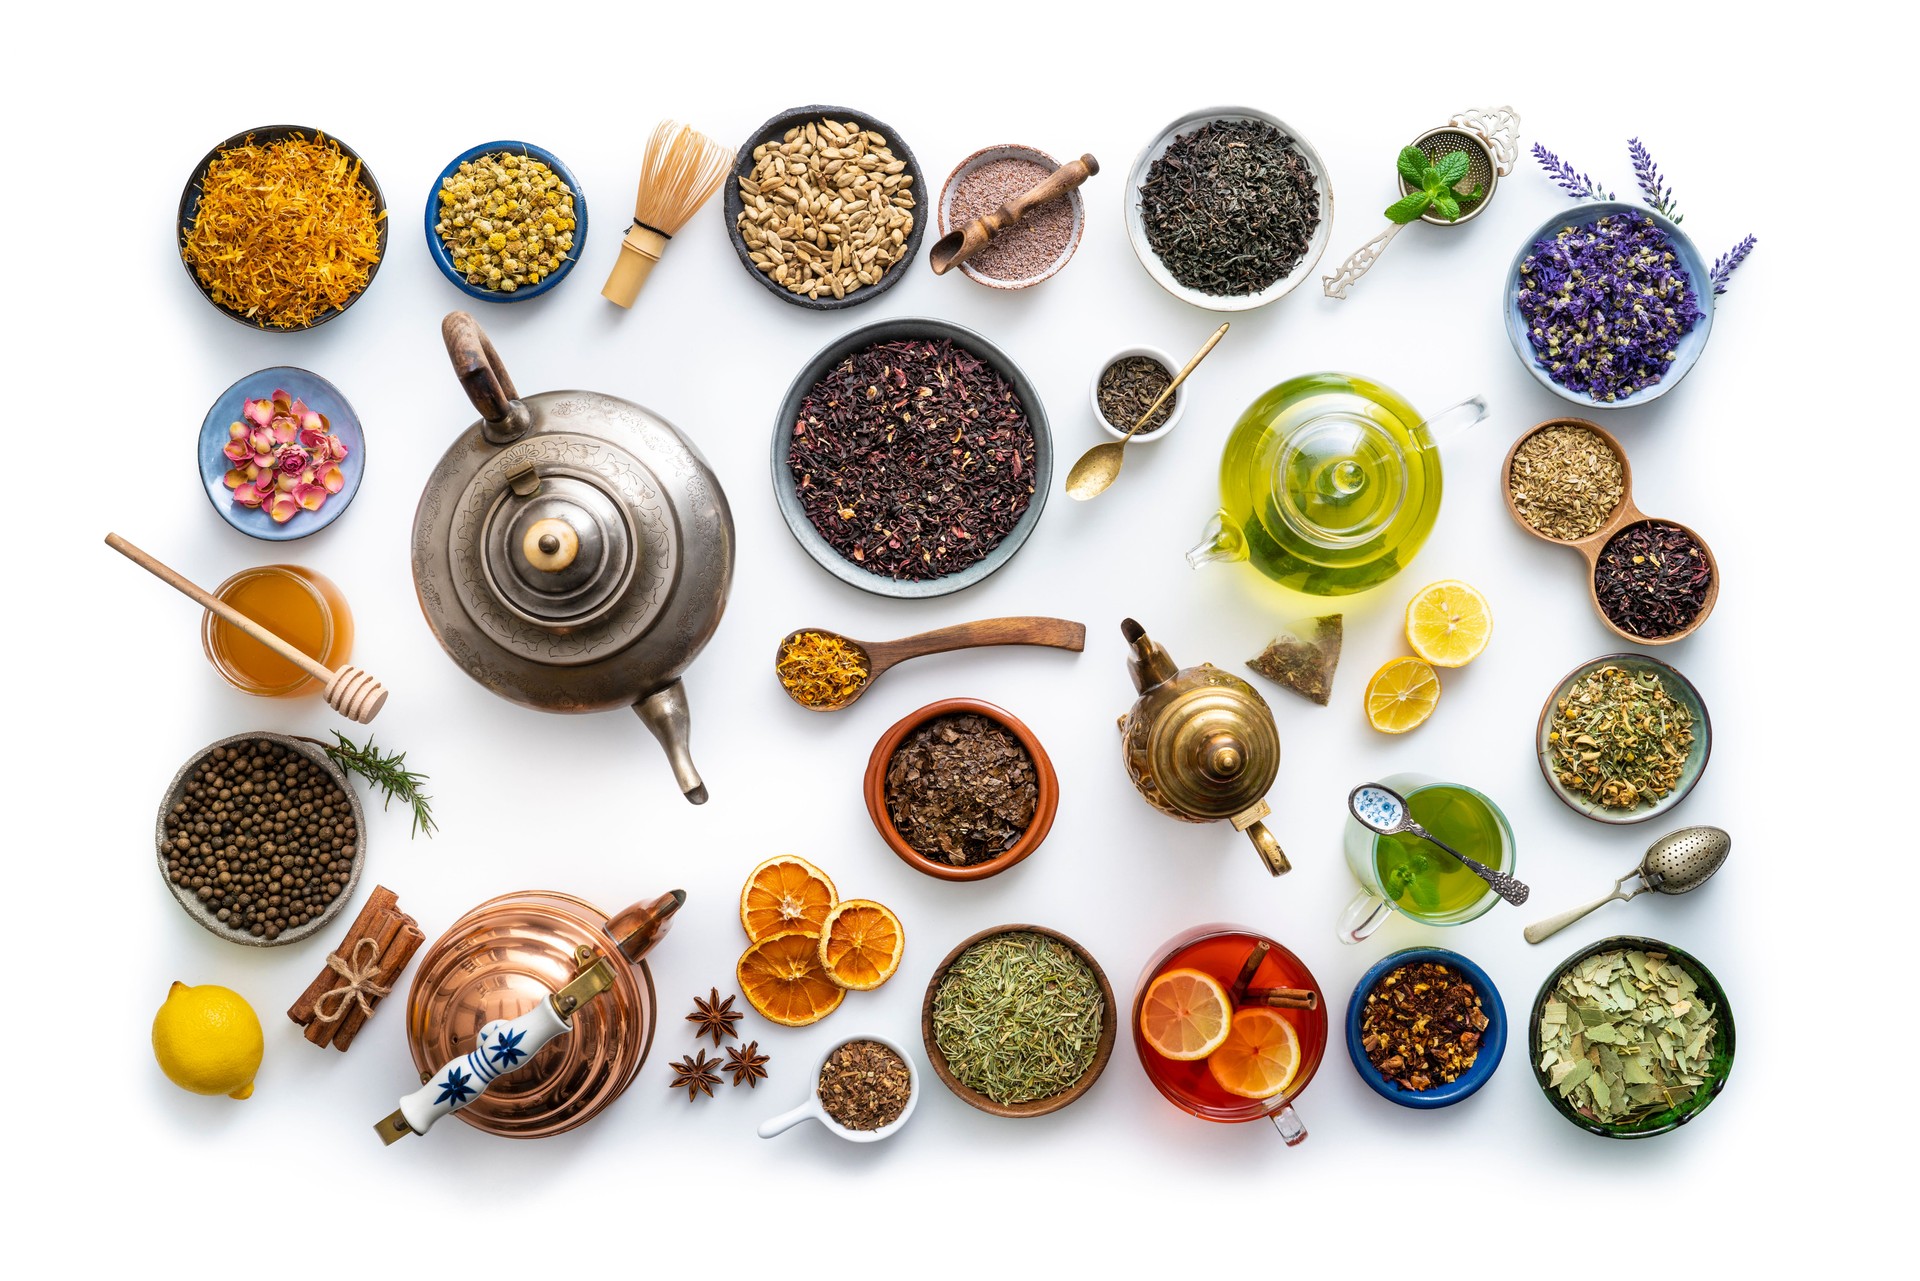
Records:
[[[1876,672],[1891,643],[1874,640],[1885,624],[1864,601],[1912,574],[1899,545],[1859,524],[1887,501],[1891,476],[1910,474],[1910,423],[1905,367],[1876,367],[1849,344],[1864,336],[1872,348],[1895,325],[1910,334],[1899,278],[1853,254],[1870,223],[1895,252],[1905,242],[1899,215],[1870,209],[1910,192],[1912,179],[1855,134],[1895,117],[1876,117],[1855,94],[1872,85],[1878,56],[1841,60],[1822,35],[1837,17],[1812,31],[1751,6],[1705,17],[1676,6],[1542,15],[1367,6],[1334,17],[1227,4],[1058,17],[1035,6],[730,6],[699,19],[643,6],[152,13],[15,33],[17,79],[0,90],[15,123],[6,365],[15,398],[25,392],[10,424],[4,517],[8,1093],[25,1133],[10,1218],[35,1227],[15,1258],[48,1271],[138,1258],[167,1273],[305,1275],[319,1271],[321,1248],[353,1237],[336,1266],[367,1275],[409,1264],[543,1268],[524,1254],[543,1243],[549,1258],[641,1258],[660,1275],[716,1266],[766,1277],[979,1275],[1039,1262],[1085,1275],[1123,1260],[1162,1275],[1319,1266],[1400,1277],[1701,1258],[1766,1269],[1887,1231],[1882,1162],[1910,1137],[1912,979],[1905,966],[1880,970],[1857,939],[1901,928],[1907,872],[1891,860],[1908,841],[1849,822],[1841,787],[1870,762],[1901,787],[1910,778],[1912,682]],[[1079,255],[1014,296],[914,263],[872,305],[814,315],[747,278],[716,200],[676,236],[632,313],[599,298],[655,119],[682,115],[735,142],[760,119],[820,100],[889,121],[918,154],[929,194],[985,144],[1092,152],[1104,171],[1085,188]],[[1135,152],[1165,121],[1213,102],[1281,115],[1327,159],[1336,207],[1323,269],[1382,225],[1402,142],[1455,109],[1503,102],[1523,113],[1528,144],[1546,140],[1622,196],[1626,136],[1640,134],[1709,257],[1747,230],[1761,236],[1695,373],[1655,407],[1605,417],[1630,451],[1640,505],[1697,528],[1724,574],[1713,620],[1663,651],[1697,682],[1716,730],[1705,782],[1670,820],[1630,830],[1582,820],[1553,801],[1530,751],[1555,678],[1615,647],[1576,557],[1521,534],[1498,494],[1511,440],[1565,411],[1500,328],[1509,255],[1567,204],[1530,161],[1469,227],[1400,236],[1348,302],[1321,298],[1315,280],[1233,317],[1175,434],[1129,451],[1125,476],[1092,505],[1056,488],[1033,540],[987,584],[889,601],[841,586],[787,536],[768,484],[774,411],[803,361],[854,325],[939,315],[1004,346],[1043,392],[1056,486],[1100,440],[1087,380],[1106,353],[1148,342],[1185,355],[1206,338],[1219,317],[1148,280],[1119,211]],[[348,317],[300,336],[253,334],[217,315],[171,248],[175,202],[202,152],[276,121],[321,125],[361,150],[394,217],[372,290]],[[559,152],[593,217],[574,275],[511,307],[467,303],[420,232],[442,163],[490,138]],[[1755,177],[1768,156],[1789,163]],[[480,313],[522,390],[643,401],[720,472],[739,530],[733,597],[687,676],[693,749],[712,789],[705,809],[680,801],[634,716],[545,716],[495,699],[420,618],[405,551],[413,507],[472,421],[440,350],[440,315],[459,305]],[[1889,386],[1862,390],[1862,361]],[[100,545],[119,530],[204,584],[280,559],[209,511],[192,461],[211,399],[280,363],[334,380],[365,423],[369,472],[353,509],[286,557],[349,597],[355,663],[394,689],[378,739],[432,774],[442,822],[436,839],[409,841],[405,814],[374,805],[363,885],[397,889],[430,939],[518,887],[566,889],[609,910],[689,891],[653,962],[662,1022],[651,1060],[611,1112],[564,1137],[516,1145],[447,1124],[382,1150],[371,1125],[413,1077],[401,999],[349,1054],[313,1051],[282,1010],[340,926],[298,947],[238,949],[192,926],[154,872],[154,805],[190,753],[252,728],[338,724],[317,697],[230,691],[200,657],[198,611]],[[1365,373],[1428,413],[1484,392],[1492,419],[1446,446],[1448,499],[1419,563],[1336,605],[1346,655],[1332,707],[1271,691],[1286,753],[1273,826],[1296,870],[1269,882],[1242,837],[1165,820],[1127,786],[1114,716],[1133,691],[1117,624],[1139,616],[1181,663],[1238,668],[1277,626],[1325,609],[1246,567],[1194,572],[1181,561],[1213,509],[1233,419],[1267,386],[1313,369]],[[1899,432],[1897,451],[1862,451],[1870,432]],[[1359,709],[1365,678],[1404,651],[1407,595],[1452,576],[1492,599],[1492,645],[1444,676],[1425,728],[1377,736]],[[1020,613],[1087,622],[1087,653],[920,661],[835,716],[799,711],[768,672],[774,641],[801,624],[881,640]],[[1041,851],[975,885],[900,864],[860,803],[874,739],[945,695],[1014,711],[1062,782]],[[1340,858],[1342,797],[1396,770],[1494,795],[1519,834],[1532,906],[1498,906],[1453,931],[1396,918],[1365,945],[1338,945],[1332,920],[1354,889]],[[1703,891],[1615,905],[1544,947],[1523,943],[1526,920],[1601,893],[1647,841],[1693,822],[1736,837],[1730,866]],[[739,882],[781,851],[820,862],[845,895],[895,906],[904,966],[812,1029],[749,1016],[772,1079],[689,1106],[666,1091],[666,1062],[693,1049],[680,1016],[695,991],[732,989]],[[881,1031],[918,1047],[933,964],[966,933],[1010,920],[1083,941],[1121,1004],[1164,939],[1238,920],[1306,958],[1334,1020],[1367,964],[1438,941],[1494,974],[1519,1026],[1561,956],[1640,931],[1718,972],[1740,1058],[1705,1116],[1638,1145],[1555,1116],[1519,1031],[1492,1083],[1440,1114],[1371,1095],[1336,1039],[1298,1102],[1311,1137],[1292,1150],[1263,1124],[1175,1112],[1125,1035],[1098,1085],[1044,1120],[987,1118],[929,1076],[912,1125],[885,1145],[845,1145],[818,1127],[755,1137],[760,1118],[804,1095],[810,1060],[833,1039]],[[252,1100],[190,1097],[154,1066],[148,1026],[173,979],[230,985],[259,1010],[267,1058]]]

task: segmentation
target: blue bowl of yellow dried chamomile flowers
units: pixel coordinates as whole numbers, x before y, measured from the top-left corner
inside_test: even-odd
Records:
[[[453,288],[480,302],[526,302],[559,286],[588,242],[574,171],[532,142],[482,142],[426,194],[426,250]]]

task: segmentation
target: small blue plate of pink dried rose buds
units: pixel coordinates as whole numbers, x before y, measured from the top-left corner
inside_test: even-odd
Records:
[[[367,472],[353,405],[326,378],[276,365],[221,392],[200,424],[200,482],[221,519],[290,542],[340,519]]]

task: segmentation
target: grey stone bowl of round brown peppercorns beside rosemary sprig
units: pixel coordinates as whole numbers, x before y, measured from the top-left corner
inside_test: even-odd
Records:
[[[317,743],[255,730],[196,751],[154,826],[159,876],[204,930],[280,947],[334,920],[367,862],[367,814]]]

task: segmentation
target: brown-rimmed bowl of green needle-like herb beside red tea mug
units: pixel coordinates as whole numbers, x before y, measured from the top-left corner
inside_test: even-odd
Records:
[[[962,939],[920,1004],[933,1076],[993,1116],[1046,1116],[1085,1095],[1114,1056],[1117,1026],[1100,962],[1046,926]]]

